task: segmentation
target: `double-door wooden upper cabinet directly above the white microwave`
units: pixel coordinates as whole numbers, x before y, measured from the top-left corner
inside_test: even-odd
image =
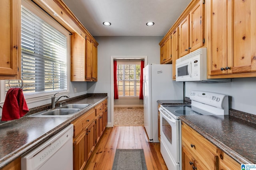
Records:
[[[204,45],[204,8],[200,0],[179,25],[180,57]]]

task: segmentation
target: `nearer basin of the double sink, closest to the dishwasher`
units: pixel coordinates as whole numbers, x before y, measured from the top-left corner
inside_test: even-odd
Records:
[[[72,116],[77,113],[80,109],[69,109],[69,108],[60,108],[49,111],[41,111],[39,113],[30,115],[32,117],[44,117],[44,116]]]

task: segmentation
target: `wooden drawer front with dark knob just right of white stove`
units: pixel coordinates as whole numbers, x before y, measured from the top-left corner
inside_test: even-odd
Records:
[[[218,164],[218,156],[215,155],[217,147],[185,123],[182,123],[182,147],[192,154],[198,164],[207,169],[216,169],[216,164]]]

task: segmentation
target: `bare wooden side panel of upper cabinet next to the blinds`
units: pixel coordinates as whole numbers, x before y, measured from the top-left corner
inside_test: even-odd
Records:
[[[85,81],[85,38],[77,33],[71,35],[70,80]]]

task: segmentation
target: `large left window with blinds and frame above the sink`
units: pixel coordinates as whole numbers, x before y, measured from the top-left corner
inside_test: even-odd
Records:
[[[21,77],[25,98],[38,100],[56,92],[68,93],[70,33],[30,0],[22,0],[21,8]],[[20,81],[10,81],[11,87],[18,85]],[[9,88],[6,80],[5,92]]]

